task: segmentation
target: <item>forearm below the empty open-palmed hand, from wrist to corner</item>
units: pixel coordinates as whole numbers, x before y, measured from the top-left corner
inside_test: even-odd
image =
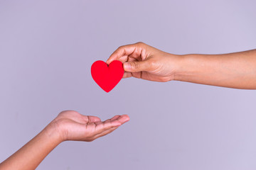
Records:
[[[0,170],[36,169],[60,142],[58,131],[48,125],[30,142],[2,162],[0,164]]]

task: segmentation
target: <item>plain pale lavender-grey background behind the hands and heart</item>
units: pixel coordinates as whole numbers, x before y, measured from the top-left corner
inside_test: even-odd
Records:
[[[256,169],[256,91],[123,79],[90,66],[143,41],[174,54],[256,47],[255,1],[0,1],[0,162],[63,110],[129,123],[63,142],[38,169]],[[242,80],[241,80],[242,81]]]

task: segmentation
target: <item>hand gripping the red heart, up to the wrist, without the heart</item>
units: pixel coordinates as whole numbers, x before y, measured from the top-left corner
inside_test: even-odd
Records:
[[[174,73],[178,69],[178,58],[177,55],[138,42],[119,47],[107,60],[107,64],[114,60],[124,63],[123,78],[136,77],[164,82],[174,79]]]

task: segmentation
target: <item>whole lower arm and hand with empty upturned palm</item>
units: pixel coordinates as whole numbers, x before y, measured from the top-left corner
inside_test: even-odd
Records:
[[[129,121],[128,115],[115,115],[102,122],[95,116],[76,111],[63,111],[36,137],[0,164],[1,170],[31,170],[61,142],[67,140],[91,142],[109,134]]]

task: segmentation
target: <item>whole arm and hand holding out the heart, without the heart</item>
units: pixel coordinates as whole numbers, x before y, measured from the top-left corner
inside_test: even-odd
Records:
[[[256,50],[223,55],[173,55],[137,42],[119,47],[107,64],[114,60],[124,63],[124,78],[256,89]]]

